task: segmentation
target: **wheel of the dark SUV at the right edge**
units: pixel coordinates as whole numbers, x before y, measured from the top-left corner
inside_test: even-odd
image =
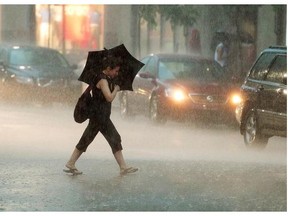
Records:
[[[249,111],[245,120],[244,142],[249,148],[264,148],[268,143],[268,137],[263,136],[258,128],[257,116],[254,111]]]

